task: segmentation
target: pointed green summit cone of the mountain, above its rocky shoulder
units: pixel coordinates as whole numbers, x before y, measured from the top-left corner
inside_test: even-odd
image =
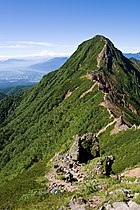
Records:
[[[82,68],[85,72],[101,68],[112,70],[115,69],[115,61],[117,63],[122,57],[121,51],[108,38],[96,35],[81,43],[65,66],[71,63],[73,69]]]

